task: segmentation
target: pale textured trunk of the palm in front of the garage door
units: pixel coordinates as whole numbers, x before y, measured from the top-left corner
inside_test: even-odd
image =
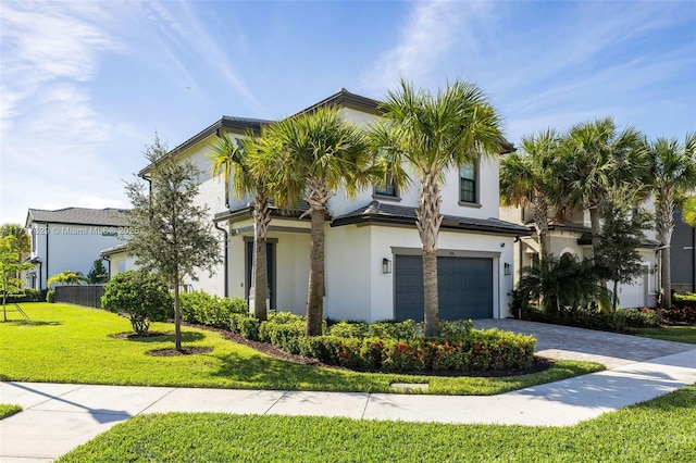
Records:
[[[423,173],[421,178],[421,197],[415,226],[423,245],[423,318],[425,336],[437,336],[439,333],[439,301],[437,297],[437,235],[443,216],[439,207],[443,199],[439,195],[436,173]]]

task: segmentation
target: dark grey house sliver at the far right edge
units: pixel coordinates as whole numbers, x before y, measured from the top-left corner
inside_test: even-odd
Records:
[[[696,227],[682,220],[681,211],[674,211],[671,261],[672,290],[696,292]]]

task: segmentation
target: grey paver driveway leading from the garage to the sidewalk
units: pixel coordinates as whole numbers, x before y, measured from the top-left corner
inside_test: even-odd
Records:
[[[684,342],[510,318],[477,320],[474,326],[532,335],[537,339],[538,355],[598,362],[608,370],[696,349]]]

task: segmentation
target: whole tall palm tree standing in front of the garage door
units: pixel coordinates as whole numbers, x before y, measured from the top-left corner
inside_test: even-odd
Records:
[[[418,90],[405,80],[389,91],[384,118],[372,127],[372,143],[389,164],[400,187],[410,183],[410,166],[421,185],[415,211],[423,246],[425,335],[438,333],[437,236],[443,221],[440,185],[445,173],[501,151],[501,121],[483,91],[456,80],[436,96]]]

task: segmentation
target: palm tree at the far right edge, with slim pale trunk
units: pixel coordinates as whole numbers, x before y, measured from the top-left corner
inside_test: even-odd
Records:
[[[660,241],[660,292],[662,305],[672,304],[671,242],[674,232],[675,196],[696,185],[696,133],[687,134],[684,145],[676,138],[657,138],[648,145],[655,189],[655,227]]]

